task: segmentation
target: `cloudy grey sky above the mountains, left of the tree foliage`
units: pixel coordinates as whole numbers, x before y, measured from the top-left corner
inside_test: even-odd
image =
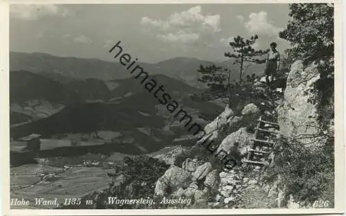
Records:
[[[44,4],[10,6],[10,51],[112,61],[118,41],[138,61],[224,61],[229,41],[257,34],[254,48],[289,48],[278,37],[288,4]]]

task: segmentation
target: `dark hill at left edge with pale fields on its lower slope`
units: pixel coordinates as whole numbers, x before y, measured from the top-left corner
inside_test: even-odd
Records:
[[[107,101],[111,91],[99,79],[53,80],[26,70],[10,72],[10,124],[49,117],[65,106]]]

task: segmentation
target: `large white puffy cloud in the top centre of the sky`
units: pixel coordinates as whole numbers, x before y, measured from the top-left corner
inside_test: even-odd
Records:
[[[201,13],[201,6],[175,12],[167,19],[142,17],[140,25],[161,41],[192,43],[221,31],[220,15]]]

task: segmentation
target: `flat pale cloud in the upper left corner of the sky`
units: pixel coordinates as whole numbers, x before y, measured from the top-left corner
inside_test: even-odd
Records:
[[[11,4],[11,17],[23,20],[35,20],[44,16],[66,17],[70,14],[69,10],[62,9],[54,4]]]

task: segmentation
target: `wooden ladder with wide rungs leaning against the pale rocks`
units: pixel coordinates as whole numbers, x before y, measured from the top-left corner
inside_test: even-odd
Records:
[[[244,163],[252,166],[268,166],[270,161],[268,161],[268,156],[271,154],[273,147],[275,146],[275,141],[270,141],[265,139],[265,137],[273,137],[278,133],[277,130],[268,130],[264,128],[269,126],[274,129],[278,129],[279,125],[272,121],[266,121],[260,116],[257,119],[257,126],[255,128],[255,138],[251,148],[248,149],[248,155],[246,159],[243,160]],[[275,137],[273,137],[275,140]]]

